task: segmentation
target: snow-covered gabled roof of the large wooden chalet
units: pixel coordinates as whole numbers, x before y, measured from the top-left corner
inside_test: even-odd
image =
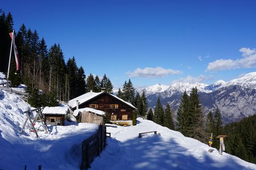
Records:
[[[69,100],[68,101],[68,105],[70,106],[70,107],[72,107],[72,108],[75,108],[76,107],[76,101],[78,100],[79,101],[79,103],[81,104],[81,103],[85,103],[86,101],[88,101],[88,100],[90,100],[90,99],[92,99],[92,98],[94,98],[94,97],[96,97],[96,96],[98,96],[98,95],[101,95],[101,94],[103,94],[104,92],[88,92],[88,93],[86,93],[86,94],[84,94],[84,95],[81,95],[81,96],[78,96],[78,97],[76,97],[76,98],[74,98],[74,99],[72,99],[72,100]],[[112,95],[112,94],[109,94],[109,95]],[[119,98],[119,97],[117,97],[117,96],[115,96],[115,95],[112,95],[113,97],[115,97],[115,99],[118,99],[118,100],[120,100],[120,101],[122,101],[123,103],[126,103],[127,105],[129,105],[130,107],[132,107],[132,108],[134,108],[134,109],[137,109],[137,108],[135,108],[131,103],[129,103],[129,102],[127,102],[127,101],[125,101],[125,100],[123,100],[123,99],[121,99],[121,98]]]

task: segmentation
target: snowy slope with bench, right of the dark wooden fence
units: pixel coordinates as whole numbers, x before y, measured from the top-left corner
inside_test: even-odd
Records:
[[[218,154],[214,148],[184,137],[152,121],[138,118],[137,126],[111,125],[108,146],[94,159],[90,169],[256,169],[236,156]],[[157,130],[160,135],[138,134]]]

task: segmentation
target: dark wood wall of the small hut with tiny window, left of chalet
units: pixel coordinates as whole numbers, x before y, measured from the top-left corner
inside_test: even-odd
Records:
[[[44,122],[50,125],[64,126],[65,114],[44,114]]]

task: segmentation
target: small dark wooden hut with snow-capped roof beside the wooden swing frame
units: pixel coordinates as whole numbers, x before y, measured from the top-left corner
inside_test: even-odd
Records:
[[[44,122],[46,122],[46,124],[64,126],[68,107],[65,107],[64,105],[60,107],[45,107],[42,113],[44,114]]]

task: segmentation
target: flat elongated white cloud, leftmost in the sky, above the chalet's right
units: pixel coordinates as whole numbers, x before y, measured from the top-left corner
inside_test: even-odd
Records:
[[[146,67],[144,69],[137,68],[133,72],[127,72],[126,73],[129,77],[163,77],[167,75],[174,75],[174,74],[181,74],[181,71],[179,70],[172,70],[172,69],[164,69],[162,67]]]

